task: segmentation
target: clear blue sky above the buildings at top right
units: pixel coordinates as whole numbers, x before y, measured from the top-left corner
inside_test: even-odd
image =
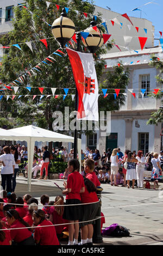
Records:
[[[153,2],[152,4],[146,3]],[[155,4],[154,4],[155,3]],[[159,31],[163,32],[163,22],[162,22],[162,11],[163,11],[163,1],[162,0],[94,0],[94,4],[105,9],[106,6],[112,11],[120,14],[127,13],[128,16],[140,17],[140,11],[131,11],[135,8],[142,10],[142,18],[152,21],[153,26],[155,26],[155,37],[160,38]],[[143,6],[144,5],[144,6]]]

